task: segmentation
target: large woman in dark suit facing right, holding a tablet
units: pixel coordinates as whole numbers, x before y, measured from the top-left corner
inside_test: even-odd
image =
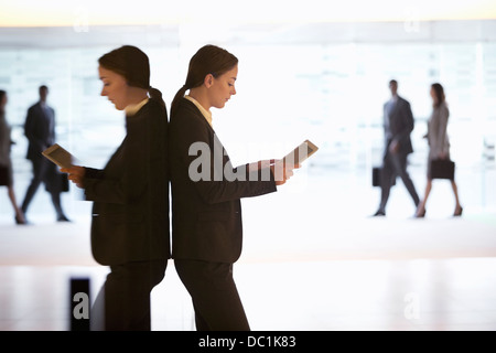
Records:
[[[250,329],[233,278],[242,243],[240,199],[277,191],[294,168],[281,161],[231,165],[211,108],[223,108],[236,94],[237,73],[233,54],[205,45],[191,58],[171,105],[172,257],[198,331]]]

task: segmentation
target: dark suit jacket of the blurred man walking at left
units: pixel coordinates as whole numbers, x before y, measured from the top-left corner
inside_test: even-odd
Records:
[[[36,103],[28,109],[24,133],[29,140],[28,156],[30,160],[44,158],[41,153],[55,143],[55,110]]]

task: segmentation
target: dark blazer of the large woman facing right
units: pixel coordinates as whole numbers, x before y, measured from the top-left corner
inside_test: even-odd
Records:
[[[197,153],[194,146],[220,151],[224,156],[215,161],[214,153]],[[244,172],[241,165],[233,168],[229,157],[202,113],[190,100],[182,98],[169,126],[169,152],[172,185],[172,257],[212,263],[235,263],[242,246],[241,197],[274,192],[272,174],[254,175]],[[193,154],[193,156],[190,156]],[[198,158],[209,161],[209,178],[193,181],[192,171],[198,171]],[[219,156],[217,156],[219,157]],[[247,169],[246,169],[247,170]],[[205,170],[202,170],[205,172]],[[245,175],[228,181],[226,174]],[[261,174],[269,175],[260,181]]]

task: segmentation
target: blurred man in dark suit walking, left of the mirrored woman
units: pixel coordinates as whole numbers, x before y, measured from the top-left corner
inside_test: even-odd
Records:
[[[48,87],[40,87],[40,101],[31,106],[24,124],[24,133],[29,140],[26,158],[33,163],[33,179],[22,203],[22,212],[28,207],[43,182],[52,196],[58,222],[68,222],[61,205],[62,178],[56,165],[43,157],[42,152],[55,143],[55,111],[46,104]]]

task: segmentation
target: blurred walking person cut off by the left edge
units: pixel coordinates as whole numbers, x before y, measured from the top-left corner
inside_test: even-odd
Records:
[[[9,200],[15,212],[15,223],[25,224],[24,214],[18,206],[13,189],[13,170],[10,151],[14,142],[11,139],[11,127],[7,122],[6,106],[8,103],[7,92],[0,90],[0,185],[7,186]]]

